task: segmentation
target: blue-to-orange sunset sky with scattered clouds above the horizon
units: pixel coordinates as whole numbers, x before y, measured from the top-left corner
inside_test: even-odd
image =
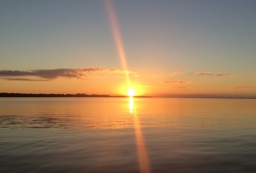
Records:
[[[256,96],[254,0],[0,0],[0,92]]]

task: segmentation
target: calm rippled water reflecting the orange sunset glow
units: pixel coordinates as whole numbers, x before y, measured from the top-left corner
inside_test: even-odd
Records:
[[[0,172],[256,172],[256,100],[0,98]]]

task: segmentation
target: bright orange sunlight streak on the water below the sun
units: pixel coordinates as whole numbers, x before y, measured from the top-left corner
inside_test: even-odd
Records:
[[[130,113],[134,114],[134,130],[136,136],[136,146],[138,151],[139,171],[141,173],[150,173],[150,161],[147,155],[146,146],[144,143],[141,125],[139,124],[137,112],[134,110],[134,98],[130,96]]]

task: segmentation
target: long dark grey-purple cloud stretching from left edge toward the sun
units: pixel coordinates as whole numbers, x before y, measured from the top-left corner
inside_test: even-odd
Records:
[[[40,77],[46,81],[57,79],[58,77],[86,79],[86,73],[119,73],[138,76],[137,73],[122,69],[100,69],[100,68],[85,68],[85,69],[37,69],[37,70],[0,70],[0,77]],[[2,78],[7,81],[38,81],[27,78]],[[39,80],[40,81],[40,80]]]

